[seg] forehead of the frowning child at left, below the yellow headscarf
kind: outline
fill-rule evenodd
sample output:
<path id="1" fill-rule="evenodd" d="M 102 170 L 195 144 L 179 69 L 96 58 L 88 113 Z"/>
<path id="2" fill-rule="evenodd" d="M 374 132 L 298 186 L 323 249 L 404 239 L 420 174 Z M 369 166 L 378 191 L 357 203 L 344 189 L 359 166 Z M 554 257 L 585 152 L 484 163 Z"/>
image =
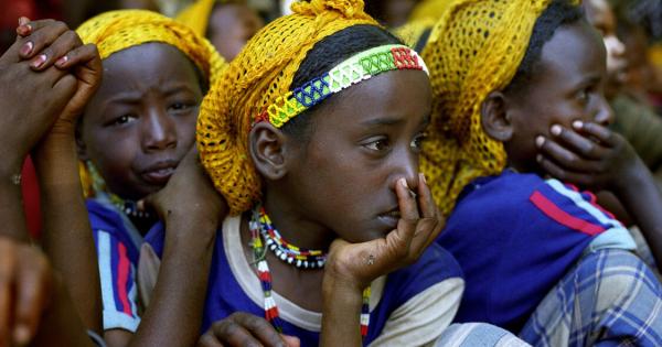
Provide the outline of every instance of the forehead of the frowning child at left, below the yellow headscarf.
<path id="1" fill-rule="evenodd" d="M 180 82 L 199 84 L 194 64 L 177 47 L 164 43 L 146 43 L 117 52 L 103 62 L 104 76 L 99 95 Z"/>

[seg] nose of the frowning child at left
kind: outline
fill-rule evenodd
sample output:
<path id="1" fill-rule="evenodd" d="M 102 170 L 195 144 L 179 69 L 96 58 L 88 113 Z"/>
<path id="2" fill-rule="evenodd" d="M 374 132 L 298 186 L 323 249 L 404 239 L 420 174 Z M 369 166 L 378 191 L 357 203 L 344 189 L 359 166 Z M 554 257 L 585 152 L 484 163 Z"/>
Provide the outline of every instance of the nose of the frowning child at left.
<path id="1" fill-rule="evenodd" d="M 146 152 L 177 147 L 174 120 L 163 107 L 150 107 L 142 122 L 142 148 Z"/>

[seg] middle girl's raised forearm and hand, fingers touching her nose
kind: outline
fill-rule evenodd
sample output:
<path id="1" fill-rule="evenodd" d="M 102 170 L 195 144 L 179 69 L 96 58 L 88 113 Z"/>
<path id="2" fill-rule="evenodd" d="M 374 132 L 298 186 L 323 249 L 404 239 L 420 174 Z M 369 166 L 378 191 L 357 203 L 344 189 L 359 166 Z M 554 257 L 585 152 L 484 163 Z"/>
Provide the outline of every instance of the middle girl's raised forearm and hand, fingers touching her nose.
<path id="1" fill-rule="evenodd" d="M 418 260 L 444 227 L 423 174 L 414 198 L 404 178 L 395 192 L 402 218 L 386 238 L 351 245 L 331 245 L 322 281 L 321 346 L 361 346 L 360 314 L 363 290 L 376 278 Z"/>

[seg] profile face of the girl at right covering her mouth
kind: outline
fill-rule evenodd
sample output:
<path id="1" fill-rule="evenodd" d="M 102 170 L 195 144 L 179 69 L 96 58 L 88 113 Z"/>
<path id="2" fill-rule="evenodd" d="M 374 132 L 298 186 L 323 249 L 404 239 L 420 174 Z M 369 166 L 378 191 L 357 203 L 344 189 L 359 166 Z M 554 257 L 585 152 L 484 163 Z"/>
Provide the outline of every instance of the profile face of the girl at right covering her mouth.
<path id="1" fill-rule="evenodd" d="M 604 96 L 605 62 L 602 41 L 588 23 L 580 21 L 556 30 L 543 46 L 531 82 L 506 96 L 513 134 L 504 145 L 512 166 L 524 172 L 535 170 L 535 138 L 553 138 L 553 124 L 572 128 L 575 120 L 611 122 Z"/>

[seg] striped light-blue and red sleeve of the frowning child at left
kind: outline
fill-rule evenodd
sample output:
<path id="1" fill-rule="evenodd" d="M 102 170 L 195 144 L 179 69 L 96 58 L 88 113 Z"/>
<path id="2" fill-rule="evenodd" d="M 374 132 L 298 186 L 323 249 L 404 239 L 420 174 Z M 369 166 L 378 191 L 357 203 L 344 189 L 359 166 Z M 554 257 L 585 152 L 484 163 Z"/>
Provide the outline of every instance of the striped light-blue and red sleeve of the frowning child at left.
<path id="1" fill-rule="evenodd" d="M 113 232 L 95 230 L 104 304 L 104 329 L 125 329 L 135 333 L 138 316 L 136 265 L 127 253 L 127 246 Z"/>

